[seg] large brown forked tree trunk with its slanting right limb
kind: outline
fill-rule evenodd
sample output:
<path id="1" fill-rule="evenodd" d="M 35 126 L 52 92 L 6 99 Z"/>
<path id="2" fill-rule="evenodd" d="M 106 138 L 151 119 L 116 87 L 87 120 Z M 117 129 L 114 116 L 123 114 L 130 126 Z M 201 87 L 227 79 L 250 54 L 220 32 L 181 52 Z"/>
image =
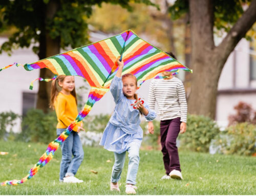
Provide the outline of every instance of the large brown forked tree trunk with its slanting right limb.
<path id="1" fill-rule="evenodd" d="M 191 64 L 193 78 L 188 113 L 214 119 L 218 82 L 224 64 L 238 42 L 256 21 L 256 0 L 243 13 L 218 47 L 213 39 L 213 1 L 190 0 Z"/>

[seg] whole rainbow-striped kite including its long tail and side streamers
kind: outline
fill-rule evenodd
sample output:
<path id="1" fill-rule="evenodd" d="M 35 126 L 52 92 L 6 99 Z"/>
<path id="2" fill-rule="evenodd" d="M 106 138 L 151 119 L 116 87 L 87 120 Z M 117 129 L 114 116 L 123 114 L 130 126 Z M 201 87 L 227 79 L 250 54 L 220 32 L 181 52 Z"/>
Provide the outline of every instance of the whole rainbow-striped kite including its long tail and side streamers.
<path id="1" fill-rule="evenodd" d="M 86 117 L 94 103 L 109 91 L 111 81 L 117 71 L 117 63 L 115 63 L 117 58 L 122 59 L 124 62 L 122 74 L 132 73 L 142 83 L 164 71 L 175 72 L 174 74 L 179 70 L 192 72 L 192 70 L 189 70 L 174 58 L 139 38 L 132 30 L 127 30 L 119 35 L 88 46 L 31 64 L 25 64 L 24 68 L 28 71 L 48 68 L 55 74 L 52 79 L 38 78 L 36 80 L 50 81 L 55 79 L 56 75 L 81 76 L 88 81 L 92 89 L 87 103 L 76 117 L 76 120 L 57 139 L 48 145 L 46 152 L 40 157 L 34 167 L 30 169 L 29 174 L 22 180 L 5 181 L 1 183 L 1 186 L 17 185 L 26 182 L 52 159 L 60 144 L 72 132 L 73 127 Z M 3 69 L 13 65 L 19 66 L 20 64 L 13 63 Z M 3 69 L 0 69 L 0 71 Z M 161 77 L 157 76 L 156 78 Z M 30 84 L 30 89 L 32 88 L 33 82 Z"/>

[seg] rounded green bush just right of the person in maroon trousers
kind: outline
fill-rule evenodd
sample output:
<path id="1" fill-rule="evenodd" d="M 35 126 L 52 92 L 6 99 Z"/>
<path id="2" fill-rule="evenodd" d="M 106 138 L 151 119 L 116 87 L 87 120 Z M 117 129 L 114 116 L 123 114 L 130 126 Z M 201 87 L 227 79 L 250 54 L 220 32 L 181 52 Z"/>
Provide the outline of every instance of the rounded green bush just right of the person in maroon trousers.
<path id="1" fill-rule="evenodd" d="M 209 117 L 188 115 L 186 133 L 178 137 L 180 149 L 208 153 L 211 140 L 219 133 L 219 127 Z"/>

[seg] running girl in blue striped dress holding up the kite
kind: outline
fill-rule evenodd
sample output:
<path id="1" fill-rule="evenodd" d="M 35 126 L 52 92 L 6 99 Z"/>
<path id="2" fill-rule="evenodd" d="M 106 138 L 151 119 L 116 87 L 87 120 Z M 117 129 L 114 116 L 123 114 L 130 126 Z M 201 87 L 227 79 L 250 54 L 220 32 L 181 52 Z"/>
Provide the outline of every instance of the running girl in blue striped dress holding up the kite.
<path id="1" fill-rule="evenodd" d="M 114 113 L 103 132 L 100 145 L 105 149 L 113 151 L 115 163 L 112 169 L 111 190 L 120 191 L 118 181 L 123 169 L 125 154 L 128 151 L 129 165 L 126 177 L 127 194 L 135 194 L 134 186 L 139 167 L 139 148 L 143 138 L 143 131 L 140 127 L 140 114 L 146 120 L 152 121 L 156 118 L 156 113 L 150 109 L 147 103 L 139 103 L 136 109 L 131 105 L 138 96 L 137 79 L 133 74 L 125 74 L 121 77 L 123 61 L 117 60 L 118 71 L 110 85 L 110 91 L 116 103 Z"/>

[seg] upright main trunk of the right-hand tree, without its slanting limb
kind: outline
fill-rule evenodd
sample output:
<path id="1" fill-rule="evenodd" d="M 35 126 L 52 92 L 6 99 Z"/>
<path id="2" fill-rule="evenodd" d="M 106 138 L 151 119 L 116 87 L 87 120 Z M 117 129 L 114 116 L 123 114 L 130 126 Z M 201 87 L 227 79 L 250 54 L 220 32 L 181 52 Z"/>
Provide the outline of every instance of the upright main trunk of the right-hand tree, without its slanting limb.
<path id="1" fill-rule="evenodd" d="M 214 50 L 213 5 L 210 0 L 189 1 L 191 64 L 193 76 L 188 99 L 188 113 L 215 117 L 218 77 Z"/>

